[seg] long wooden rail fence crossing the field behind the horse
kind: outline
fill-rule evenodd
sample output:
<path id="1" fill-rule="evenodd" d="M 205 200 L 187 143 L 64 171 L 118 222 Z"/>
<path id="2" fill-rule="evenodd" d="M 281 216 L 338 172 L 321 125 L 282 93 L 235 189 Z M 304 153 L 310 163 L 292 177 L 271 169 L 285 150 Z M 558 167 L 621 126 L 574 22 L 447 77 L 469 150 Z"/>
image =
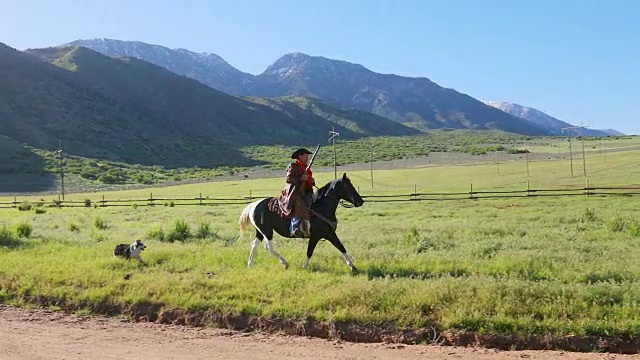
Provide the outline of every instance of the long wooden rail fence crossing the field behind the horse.
<path id="1" fill-rule="evenodd" d="M 464 192 L 414 192 L 410 194 L 388 194 L 388 195 L 364 195 L 362 196 L 367 202 L 402 202 L 402 201 L 442 201 L 442 200 L 480 200 L 480 199 L 498 199 L 498 198 L 532 198 L 532 197 L 560 197 L 560 196 L 633 196 L 640 195 L 640 186 L 608 186 L 608 187 L 591 187 L 588 184 L 585 187 L 570 188 L 537 188 L 531 189 L 527 184 L 523 190 L 481 190 L 473 189 L 470 184 L 469 191 Z M 241 205 L 248 204 L 256 199 L 260 199 L 271 195 L 257 196 L 252 193 L 249 196 L 229 196 L 229 197 L 203 197 L 199 196 L 176 197 L 176 198 L 154 198 L 153 193 L 149 194 L 146 199 L 106 199 L 102 195 L 99 199 L 85 200 L 62 200 L 58 199 L 45 200 L 21 200 L 18 196 L 13 197 L 13 201 L 0 202 L 0 209 L 14 209 L 21 206 L 24 202 L 29 202 L 35 206 L 47 207 L 137 207 L 137 206 L 219 206 L 219 205 Z"/>

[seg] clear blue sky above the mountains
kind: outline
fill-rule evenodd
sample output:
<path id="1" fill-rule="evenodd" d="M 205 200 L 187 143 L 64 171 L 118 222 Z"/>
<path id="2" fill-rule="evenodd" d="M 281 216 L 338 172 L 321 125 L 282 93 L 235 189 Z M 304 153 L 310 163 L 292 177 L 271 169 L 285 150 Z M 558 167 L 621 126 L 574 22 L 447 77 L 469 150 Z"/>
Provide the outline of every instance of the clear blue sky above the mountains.
<path id="1" fill-rule="evenodd" d="M 4 0 L 0 42 L 139 40 L 257 74 L 284 53 L 424 76 L 482 100 L 640 134 L 640 1 Z"/>

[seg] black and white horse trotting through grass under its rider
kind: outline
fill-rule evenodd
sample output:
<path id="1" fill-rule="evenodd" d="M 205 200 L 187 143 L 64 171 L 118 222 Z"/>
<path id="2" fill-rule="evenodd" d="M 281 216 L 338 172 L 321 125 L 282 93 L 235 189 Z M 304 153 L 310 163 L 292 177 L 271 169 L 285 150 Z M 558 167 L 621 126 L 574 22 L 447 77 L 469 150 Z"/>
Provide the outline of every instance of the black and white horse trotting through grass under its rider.
<path id="1" fill-rule="evenodd" d="M 247 205 L 238 219 L 240 225 L 240 238 L 249 222 L 256 228 L 256 236 L 251 243 L 251 252 L 249 253 L 249 260 L 247 267 L 251 267 L 253 263 L 253 256 L 255 254 L 258 241 L 264 241 L 264 247 L 275 256 L 285 269 L 289 268 L 289 263 L 273 248 L 273 233 L 280 234 L 287 238 L 301 238 L 301 236 L 291 236 L 289 233 L 290 219 L 280 215 L 278 208 L 277 197 L 266 197 L 260 200 L 254 201 Z M 353 187 L 351 180 L 347 178 L 347 174 L 344 173 L 341 178 L 330 181 L 322 188 L 318 190 L 317 197 L 313 201 L 311 206 L 311 219 L 310 219 L 310 236 L 309 243 L 307 245 L 307 259 L 304 262 L 303 268 L 309 266 L 309 260 L 313 256 L 313 251 L 318 245 L 321 239 L 326 239 L 335 246 L 342 256 L 344 256 L 347 265 L 352 273 L 357 273 L 358 270 L 353 265 L 351 258 L 347 255 L 347 250 L 340 242 L 338 235 L 336 235 L 336 229 L 338 226 L 338 220 L 336 219 L 336 208 L 341 200 L 353 204 L 355 207 L 360 207 L 364 204 L 364 200 Z M 343 205 L 348 206 L 348 205 Z"/>

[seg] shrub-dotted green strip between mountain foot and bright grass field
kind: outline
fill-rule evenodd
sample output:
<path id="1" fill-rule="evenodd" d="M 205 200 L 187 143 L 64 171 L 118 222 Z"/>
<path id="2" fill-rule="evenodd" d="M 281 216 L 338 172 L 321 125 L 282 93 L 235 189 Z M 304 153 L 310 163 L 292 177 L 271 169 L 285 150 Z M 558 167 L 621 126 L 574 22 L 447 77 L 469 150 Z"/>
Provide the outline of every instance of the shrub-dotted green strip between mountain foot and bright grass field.
<path id="1" fill-rule="evenodd" d="M 1 140 L 1 139 L 0 139 Z M 357 140 L 340 140 L 336 142 L 337 163 L 342 166 L 357 166 L 371 160 L 377 164 L 385 165 L 389 161 L 442 157 L 446 160 L 438 164 L 455 163 L 460 159 L 470 162 L 480 162 L 485 159 L 498 159 L 506 161 L 517 158 L 514 151 L 531 152 L 532 159 L 547 159 L 550 157 L 564 157 L 569 159 L 570 151 L 576 160 L 582 157 L 582 142 L 573 139 L 572 146 L 566 137 L 527 137 L 522 135 L 506 134 L 497 131 L 442 131 L 433 130 L 427 134 L 415 136 L 387 136 L 370 137 Z M 242 166 L 220 166 L 217 168 L 178 168 L 170 169 L 161 166 L 142 166 L 127 163 L 119 163 L 98 159 L 82 158 L 65 154 L 62 159 L 56 152 L 31 148 L 24 148 L 16 153 L 16 144 L 8 143 L 3 147 L 0 144 L 0 162 L 2 154 L 14 154 L 9 156 L 0 166 L 0 193 L 3 188 L 18 189 L 8 191 L 28 192 L 30 188 L 59 189 L 59 179 L 54 181 L 52 177 L 58 177 L 62 169 L 65 173 L 66 188 L 69 191 L 106 191 L 123 190 L 132 187 L 142 187 L 153 184 L 165 186 L 175 183 L 202 182 L 213 180 L 235 180 L 244 174 L 250 177 L 265 177 L 265 174 L 273 174 L 286 166 L 293 151 L 290 146 L 248 146 L 241 149 L 243 157 L 249 163 L 260 163 L 260 166 L 251 168 Z M 11 146 L 8 146 L 11 145 Z M 330 144 L 322 144 L 315 167 L 333 166 L 333 149 Z M 315 144 L 306 145 L 309 148 Z M 640 138 L 632 136 L 586 138 L 584 141 L 584 153 L 587 157 L 604 155 L 603 151 L 616 149 L 640 149 Z M 496 152 L 499 151 L 499 152 Z M 212 154 L 216 156 L 216 154 Z M 523 156 L 520 156 L 523 157 Z M 382 163 L 380 163 L 382 161 Z M 6 167 L 6 169 L 4 169 Z M 3 171 L 4 169 L 4 171 Z M 524 169 L 524 168 L 523 168 Z M 11 176 L 4 173 L 21 172 L 25 176 L 20 182 L 13 182 Z M 43 178 L 38 178 L 36 174 Z M 269 175 L 266 175 L 269 176 Z M 19 190 L 24 189 L 24 190 Z"/>

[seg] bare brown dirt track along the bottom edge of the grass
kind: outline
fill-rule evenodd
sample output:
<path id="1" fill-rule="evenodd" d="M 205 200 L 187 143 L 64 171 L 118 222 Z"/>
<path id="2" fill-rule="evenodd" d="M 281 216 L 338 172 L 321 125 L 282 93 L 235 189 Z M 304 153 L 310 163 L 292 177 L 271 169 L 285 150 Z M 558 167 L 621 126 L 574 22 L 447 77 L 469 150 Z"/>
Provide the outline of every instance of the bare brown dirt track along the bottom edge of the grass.
<path id="1" fill-rule="evenodd" d="M 622 359 L 631 355 L 355 344 L 0 305 L 0 359 Z"/>

